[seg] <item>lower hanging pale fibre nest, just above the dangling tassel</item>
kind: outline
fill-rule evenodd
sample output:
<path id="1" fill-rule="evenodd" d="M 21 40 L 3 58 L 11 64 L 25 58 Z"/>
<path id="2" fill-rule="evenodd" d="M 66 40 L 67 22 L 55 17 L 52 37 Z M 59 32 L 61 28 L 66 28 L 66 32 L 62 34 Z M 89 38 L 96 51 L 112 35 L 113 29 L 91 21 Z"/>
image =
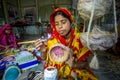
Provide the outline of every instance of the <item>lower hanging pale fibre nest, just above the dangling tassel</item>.
<path id="1" fill-rule="evenodd" d="M 87 47 L 87 32 L 81 33 L 81 42 Z M 107 50 L 116 43 L 116 33 L 102 31 L 99 26 L 94 26 L 89 33 L 89 46 L 91 50 Z"/>

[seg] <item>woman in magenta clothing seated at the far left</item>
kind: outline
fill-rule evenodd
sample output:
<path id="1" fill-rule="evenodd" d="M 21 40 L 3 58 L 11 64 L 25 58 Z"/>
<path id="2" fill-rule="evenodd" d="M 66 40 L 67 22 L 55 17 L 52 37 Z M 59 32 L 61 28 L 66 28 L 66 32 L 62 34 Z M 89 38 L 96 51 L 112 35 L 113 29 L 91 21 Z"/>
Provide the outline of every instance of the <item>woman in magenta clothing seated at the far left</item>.
<path id="1" fill-rule="evenodd" d="M 16 38 L 12 33 L 12 27 L 8 24 L 0 27 L 0 50 L 17 47 Z"/>

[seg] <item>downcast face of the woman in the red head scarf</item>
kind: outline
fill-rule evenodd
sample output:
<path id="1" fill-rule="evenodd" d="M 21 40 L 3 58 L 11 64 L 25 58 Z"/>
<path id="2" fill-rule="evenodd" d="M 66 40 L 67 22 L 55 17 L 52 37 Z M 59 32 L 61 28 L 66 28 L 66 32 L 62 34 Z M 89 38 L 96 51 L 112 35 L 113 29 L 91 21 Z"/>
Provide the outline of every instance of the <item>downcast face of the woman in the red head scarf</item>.
<path id="1" fill-rule="evenodd" d="M 61 36 L 67 36 L 70 31 L 70 21 L 62 15 L 55 16 L 56 30 Z"/>

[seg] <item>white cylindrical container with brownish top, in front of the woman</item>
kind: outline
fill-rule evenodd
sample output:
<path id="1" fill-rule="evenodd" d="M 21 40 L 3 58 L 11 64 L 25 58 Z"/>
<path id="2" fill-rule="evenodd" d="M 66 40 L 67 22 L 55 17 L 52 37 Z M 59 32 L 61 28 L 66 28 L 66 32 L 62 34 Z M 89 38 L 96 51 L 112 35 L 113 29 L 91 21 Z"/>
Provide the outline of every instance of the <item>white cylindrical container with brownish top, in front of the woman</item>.
<path id="1" fill-rule="evenodd" d="M 56 80 L 57 69 L 53 66 L 49 66 L 44 70 L 44 80 Z"/>

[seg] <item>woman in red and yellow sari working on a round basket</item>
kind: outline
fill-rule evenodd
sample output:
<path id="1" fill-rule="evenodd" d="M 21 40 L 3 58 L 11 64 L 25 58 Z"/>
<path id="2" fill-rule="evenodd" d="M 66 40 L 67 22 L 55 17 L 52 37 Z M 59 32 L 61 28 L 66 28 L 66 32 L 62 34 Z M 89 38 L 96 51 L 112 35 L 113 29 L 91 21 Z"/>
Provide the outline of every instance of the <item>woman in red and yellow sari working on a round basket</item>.
<path id="1" fill-rule="evenodd" d="M 87 57 L 91 54 L 80 41 L 80 33 L 72 28 L 72 15 L 65 8 L 55 9 L 50 16 L 50 23 L 53 28 L 52 36 L 47 40 L 46 45 L 43 40 L 38 39 L 35 42 L 36 49 L 42 54 L 41 57 L 46 59 L 44 68 L 54 66 L 58 69 L 59 78 L 73 80 L 77 76 L 80 80 L 97 80 L 96 77 L 87 70 Z M 60 43 L 69 49 L 72 55 L 65 62 L 54 62 L 48 54 L 49 49 Z"/>

